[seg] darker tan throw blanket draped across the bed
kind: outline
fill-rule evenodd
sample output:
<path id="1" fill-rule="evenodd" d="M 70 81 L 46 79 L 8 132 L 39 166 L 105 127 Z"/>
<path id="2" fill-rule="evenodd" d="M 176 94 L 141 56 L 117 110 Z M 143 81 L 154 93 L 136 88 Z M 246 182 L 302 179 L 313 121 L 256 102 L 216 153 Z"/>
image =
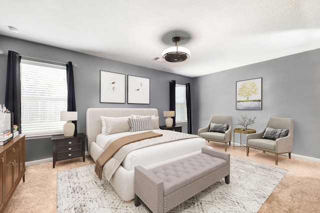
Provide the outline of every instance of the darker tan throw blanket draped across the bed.
<path id="1" fill-rule="evenodd" d="M 94 172 L 101 180 L 102 178 L 102 167 L 104 164 L 110 160 L 114 154 L 124 145 L 130 144 L 133 142 L 141 141 L 149 138 L 161 137 L 162 134 L 158 134 L 152 131 L 143 132 L 135 135 L 124 136 L 113 141 L 107 149 L 105 149 L 101 155 L 96 159 Z"/>

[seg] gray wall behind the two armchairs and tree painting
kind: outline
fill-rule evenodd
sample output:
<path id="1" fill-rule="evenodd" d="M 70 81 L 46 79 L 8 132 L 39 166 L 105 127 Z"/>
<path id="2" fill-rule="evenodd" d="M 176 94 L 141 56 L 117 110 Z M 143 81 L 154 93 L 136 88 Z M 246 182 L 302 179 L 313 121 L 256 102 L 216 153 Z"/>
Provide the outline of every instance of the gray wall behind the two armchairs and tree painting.
<path id="1" fill-rule="evenodd" d="M 193 133 L 211 115 L 256 116 L 249 128 L 260 132 L 269 117 L 294 118 L 292 153 L 320 158 L 320 49 L 251 64 L 193 79 Z M 235 82 L 262 77 L 262 110 L 235 109 Z M 193 104 L 194 105 L 194 104 Z M 232 134 L 233 138 L 233 134 Z M 238 142 L 239 134 L 235 134 Z M 245 134 L 242 135 L 242 142 Z M 245 142 L 244 142 L 245 143 Z"/>

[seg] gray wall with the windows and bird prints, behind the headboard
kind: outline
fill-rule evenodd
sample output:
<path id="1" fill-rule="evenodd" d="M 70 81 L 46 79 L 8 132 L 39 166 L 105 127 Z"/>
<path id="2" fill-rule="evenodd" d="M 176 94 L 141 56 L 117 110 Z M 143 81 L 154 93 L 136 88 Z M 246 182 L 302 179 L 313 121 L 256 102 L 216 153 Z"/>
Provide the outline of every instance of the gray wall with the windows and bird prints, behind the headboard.
<path id="1" fill-rule="evenodd" d="M 0 36 L 0 49 L 5 52 L 12 50 L 21 55 L 54 61 L 72 61 L 73 64 L 75 63 L 77 65 L 76 67 L 73 67 L 73 73 L 75 82 L 76 110 L 78 112 L 77 131 L 79 133 L 85 133 L 86 109 L 91 107 L 156 108 L 159 113 L 159 123 L 160 125 L 164 125 L 165 118 L 163 117 L 163 111 L 169 109 L 169 80 L 192 84 L 192 78 L 189 77 L 6 36 Z M 2 91 L 0 93 L 0 104 L 4 103 L 5 98 L 6 67 L 7 55 L 2 54 L 0 55 L 0 90 Z M 99 103 L 100 70 L 150 78 L 150 104 Z M 127 76 L 125 78 L 127 80 Z M 183 125 L 182 131 L 187 131 L 185 125 Z M 52 157 L 52 142 L 50 138 L 26 140 L 25 143 L 25 161 L 34 161 Z"/>

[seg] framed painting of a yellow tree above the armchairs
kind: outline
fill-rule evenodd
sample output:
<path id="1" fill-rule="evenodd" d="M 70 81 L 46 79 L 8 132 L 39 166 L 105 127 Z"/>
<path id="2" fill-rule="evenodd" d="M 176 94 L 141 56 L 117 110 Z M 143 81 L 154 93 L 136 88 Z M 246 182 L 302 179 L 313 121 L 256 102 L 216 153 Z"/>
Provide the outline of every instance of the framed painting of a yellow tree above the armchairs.
<path id="1" fill-rule="evenodd" d="M 262 109 L 262 78 L 236 81 L 236 109 Z"/>

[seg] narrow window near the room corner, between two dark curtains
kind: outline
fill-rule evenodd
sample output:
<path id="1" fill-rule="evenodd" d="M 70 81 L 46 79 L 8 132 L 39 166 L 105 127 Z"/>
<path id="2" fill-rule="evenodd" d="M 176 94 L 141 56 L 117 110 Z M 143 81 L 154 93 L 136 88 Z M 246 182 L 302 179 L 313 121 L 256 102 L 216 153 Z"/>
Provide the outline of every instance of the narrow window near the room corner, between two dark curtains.
<path id="1" fill-rule="evenodd" d="M 175 84 L 175 122 L 187 122 L 185 85 Z"/>

